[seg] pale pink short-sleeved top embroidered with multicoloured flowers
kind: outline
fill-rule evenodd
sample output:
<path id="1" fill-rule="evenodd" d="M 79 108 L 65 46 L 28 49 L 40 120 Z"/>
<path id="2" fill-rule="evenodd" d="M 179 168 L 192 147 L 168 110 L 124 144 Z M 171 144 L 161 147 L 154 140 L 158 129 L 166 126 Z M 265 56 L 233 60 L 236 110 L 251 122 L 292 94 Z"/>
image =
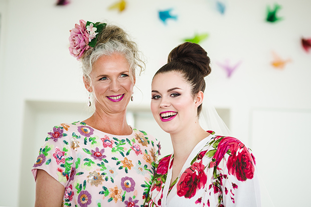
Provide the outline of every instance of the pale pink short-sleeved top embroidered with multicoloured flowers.
<path id="1" fill-rule="evenodd" d="M 143 206 L 159 143 L 144 131 L 120 136 L 84 122 L 48 133 L 32 172 L 43 169 L 65 187 L 63 206 Z"/>

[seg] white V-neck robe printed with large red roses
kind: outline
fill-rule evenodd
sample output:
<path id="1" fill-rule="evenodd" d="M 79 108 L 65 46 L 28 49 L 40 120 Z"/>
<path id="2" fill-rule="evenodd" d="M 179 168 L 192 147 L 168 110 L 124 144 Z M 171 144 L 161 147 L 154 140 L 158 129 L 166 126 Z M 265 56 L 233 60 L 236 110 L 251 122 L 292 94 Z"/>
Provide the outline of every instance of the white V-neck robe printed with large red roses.
<path id="1" fill-rule="evenodd" d="M 145 206 L 261 206 L 249 149 L 236 138 L 208 132 L 171 186 L 174 155 L 160 160 Z"/>

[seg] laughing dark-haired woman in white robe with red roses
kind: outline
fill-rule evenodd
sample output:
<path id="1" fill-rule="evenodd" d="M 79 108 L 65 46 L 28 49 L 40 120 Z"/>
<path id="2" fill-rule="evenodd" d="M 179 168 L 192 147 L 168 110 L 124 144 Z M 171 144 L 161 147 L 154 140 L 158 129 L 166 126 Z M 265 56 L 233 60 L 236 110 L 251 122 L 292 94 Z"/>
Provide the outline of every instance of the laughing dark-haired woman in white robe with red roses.
<path id="1" fill-rule="evenodd" d="M 170 133 L 174 153 L 160 160 L 145 206 L 260 206 L 249 149 L 199 124 L 204 77 L 210 72 L 206 51 L 187 42 L 153 77 L 151 111 Z"/>

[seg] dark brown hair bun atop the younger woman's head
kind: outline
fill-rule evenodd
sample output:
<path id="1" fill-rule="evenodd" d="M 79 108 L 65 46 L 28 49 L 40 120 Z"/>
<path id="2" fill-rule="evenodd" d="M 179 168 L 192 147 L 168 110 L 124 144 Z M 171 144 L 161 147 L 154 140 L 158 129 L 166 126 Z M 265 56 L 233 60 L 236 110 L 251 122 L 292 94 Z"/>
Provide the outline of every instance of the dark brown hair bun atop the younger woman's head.
<path id="1" fill-rule="evenodd" d="M 168 63 L 184 62 L 197 68 L 205 77 L 211 73 L 210 58 L 207 52 L 198 44 L 185 42 L 174 48 L 169 54 Z"/>

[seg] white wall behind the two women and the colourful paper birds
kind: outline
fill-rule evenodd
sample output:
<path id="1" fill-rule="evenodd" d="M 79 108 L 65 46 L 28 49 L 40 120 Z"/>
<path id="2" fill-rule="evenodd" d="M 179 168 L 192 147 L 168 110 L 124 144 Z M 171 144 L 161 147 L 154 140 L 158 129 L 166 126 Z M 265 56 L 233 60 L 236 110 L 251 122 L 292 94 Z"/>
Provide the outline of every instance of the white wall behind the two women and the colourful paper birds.
<path id="1" fill-rule="evenodd" d="M 128 0 L 122 13 L 107 10 L 114 2 L 71 0 L 56 7 L 56 0 L 0 0 L 0 206 L 33 205 L 32 157 L 46 132 L 87 114 L 79 105 L 87 102 L 80 65 L 68 52 L 69 30 L 80 19 L 124 28 L 145 55 L 133 111 L 148 110 L 151 78 L 169 52 L 196 32 L 209 33 L 201 43 L 213 70 L 206 95 L 216 108 L 230 110 L 230 129 L 253 149 L 274 206 L 307 206 L 311 53 L 303 51 L 300 38 L 311 38 L 311 1 L 230 0 L 225 15 L 212 8 L 212 0 Z M 282 6 L 283 20 L 269 24 L 266 6 L 274 3 Z M 170 8 L 178 21 L 164 25 L 158 11 Z M 272 51 L 291 62 L 274 69 Z M 230 79 L 216 64 L 226 59 L 242 60 Z M 77 110 L 70 111 L 68 103 Z M 148 130 L 158 134 L 157 127 Z"/>

